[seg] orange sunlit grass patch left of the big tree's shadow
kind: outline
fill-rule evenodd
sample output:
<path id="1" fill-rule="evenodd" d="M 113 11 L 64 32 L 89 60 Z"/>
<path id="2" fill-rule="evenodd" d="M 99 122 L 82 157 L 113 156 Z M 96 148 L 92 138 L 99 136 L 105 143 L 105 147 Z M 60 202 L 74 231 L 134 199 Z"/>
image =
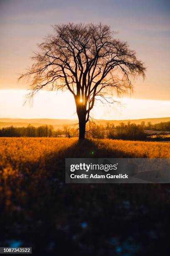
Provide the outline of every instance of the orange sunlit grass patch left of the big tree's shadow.
<path id="1" fill-rule="evenodd" d="M 75 141 L 75 138 L 0 138 L 0 166 L 22 168 L 38 163 L 43 167 L 47 156 L 60 155 Z"/>

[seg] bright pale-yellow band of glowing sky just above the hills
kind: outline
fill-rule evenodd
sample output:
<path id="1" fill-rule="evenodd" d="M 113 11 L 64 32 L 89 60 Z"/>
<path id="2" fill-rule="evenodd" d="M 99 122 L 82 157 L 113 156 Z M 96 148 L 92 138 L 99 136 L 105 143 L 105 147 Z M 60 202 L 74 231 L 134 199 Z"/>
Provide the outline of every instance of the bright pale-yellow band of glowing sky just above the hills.
<path id="1" fill-rule="evenodd" d="M 76 109 L 70 92 L 39 92 L 33 105 L 23 106 L 27 90 L 0 90 L 1 118 L 61 118 L 76 119 Z M 124 120 L 140 118 L 168 117 L 170 101 L 166 100 L 138 100 L 122 98 L 111 105 L 96 101 L 91 113 L 92 118 L 107 120 Z"/>

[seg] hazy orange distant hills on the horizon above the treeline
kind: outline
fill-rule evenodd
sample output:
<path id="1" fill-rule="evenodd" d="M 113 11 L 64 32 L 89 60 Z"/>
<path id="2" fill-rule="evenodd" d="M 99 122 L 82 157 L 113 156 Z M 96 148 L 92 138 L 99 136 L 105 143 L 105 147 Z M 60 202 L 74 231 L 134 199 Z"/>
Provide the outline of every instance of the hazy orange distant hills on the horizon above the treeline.
<path id="1" fill-rule="evenodd" d="M 151 122 L 152 124 L 161 123 L 161 122 L 168 122 L 170 121 L 170 117 L 168 118 L 145 118 L 145 119 L 133 119 L 133 120 L 102 120 L 97 119 L 94 120 L 97 124 L 105 125 L 106 123 L 113 123 L 114 125 L 119 125 L 121 122 L 123 123 L 135 123 L 140 124 L 142 121 L 145 123 Z M 47 118 L 40 118 L 40 119 L 22 119 L 22 118 L 0 118 L 0 128 L 8 127 L 8 126 L 15 126 L 15 127 L 26 127 L 28 124 L 32 124 L 35 127 L 40 125 L 53 125 L 55 129 L 61 128 L 63 125 L 75 125 L 78 123 L 76 119 L 47 119 Z"/>

